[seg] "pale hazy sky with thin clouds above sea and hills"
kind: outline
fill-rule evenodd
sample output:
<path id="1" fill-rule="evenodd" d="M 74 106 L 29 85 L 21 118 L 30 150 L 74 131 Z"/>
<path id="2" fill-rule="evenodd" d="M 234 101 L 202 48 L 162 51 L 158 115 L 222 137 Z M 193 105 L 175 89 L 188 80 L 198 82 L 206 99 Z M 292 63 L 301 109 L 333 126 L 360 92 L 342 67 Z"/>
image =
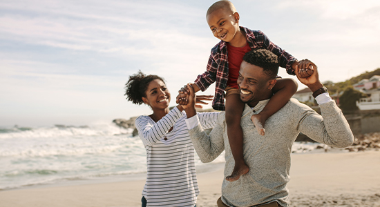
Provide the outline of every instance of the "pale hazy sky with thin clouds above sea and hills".
<path id="1" fill-rule="evenodd" d="M 0 126 L 149 115 L 124 97 L 138 70 L 163 77 L 175 106 L 178 89 L 205 71 L 218 43 L 205 19 L 213 2 L 0 0 Z M 240 26 L 312 60 L 321 81 L 380 68 L 378 0 L 232 2 Z M 279 75 L 295 78 L 283 68 Z M 214 84 L 204 92 L 213 93 Z"/>

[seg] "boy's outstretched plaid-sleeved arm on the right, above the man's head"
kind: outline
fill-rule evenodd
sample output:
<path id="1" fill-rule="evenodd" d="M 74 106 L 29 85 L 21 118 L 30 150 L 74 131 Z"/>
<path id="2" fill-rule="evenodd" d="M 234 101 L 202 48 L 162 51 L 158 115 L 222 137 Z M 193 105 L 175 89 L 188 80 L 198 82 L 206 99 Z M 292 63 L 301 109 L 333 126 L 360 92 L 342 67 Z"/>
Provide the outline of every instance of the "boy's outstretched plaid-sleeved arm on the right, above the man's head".
<path id="1" fill-rule="evenodd" d="M 296 75 L 294 71 L 296 70 L 298 61 L 295 57 L 270 41 L 267 35 L 265 35 L 263 32 L 258 31 L 255 33 L 255 37 L 258 39 L 258 45 L 260 47 L 270 50 L 278 56 L 278 63 L 280 63 L 281 67 L 286 68 L 286 71 L 289 75 Z"/>

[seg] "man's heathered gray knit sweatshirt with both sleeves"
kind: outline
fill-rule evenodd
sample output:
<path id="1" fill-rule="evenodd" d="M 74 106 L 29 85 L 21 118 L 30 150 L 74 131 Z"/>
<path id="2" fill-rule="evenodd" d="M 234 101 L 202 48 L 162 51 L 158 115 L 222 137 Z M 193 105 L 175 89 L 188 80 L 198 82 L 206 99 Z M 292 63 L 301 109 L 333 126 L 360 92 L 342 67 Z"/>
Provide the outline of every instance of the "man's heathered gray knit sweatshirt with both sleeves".
<path id="1" fill-rule="evenodd" d="M 251 115 L 263 110 L 269 99 L 260 101 L 253 109 L 245 106 L 241 126 L 243 128 L 243 154 L 249 172 L 237 181 L 223 179 L 222 201 L 227 206 L 256 206 L 277 201 L 288 206 L 287 182 L 289 181 L 292 144 L 299 132 L 311 139 L 336 148 L 350 146 L 354 136 L 348 122 L 334 101 L 320 105 L 322 115 L 309 106 L 291 99 L 265 122 L 265 136 L 261 136 L 251 121 Z M 189 130 L 191 141 L 202 162 L 216 159 L 225 152 L 225 177 L 234 169 L 234 157 L 227 137 L 225 112 L 209 136 L 198 124 Z"/>

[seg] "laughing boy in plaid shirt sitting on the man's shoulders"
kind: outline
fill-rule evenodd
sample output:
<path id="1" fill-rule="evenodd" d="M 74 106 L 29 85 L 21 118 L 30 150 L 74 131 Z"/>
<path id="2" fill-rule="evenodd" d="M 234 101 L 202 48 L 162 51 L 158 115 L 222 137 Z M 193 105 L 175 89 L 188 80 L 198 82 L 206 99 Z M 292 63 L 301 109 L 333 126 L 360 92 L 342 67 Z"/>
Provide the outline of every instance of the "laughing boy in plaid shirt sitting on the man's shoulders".
<path id="1" fill-rule="evenodd" d="M 227 135 L 235 159 L 234 170 L 226 179 L 236 181 L 249 171 L 243 159 L 243 130 L 240 126 L 245 104 L 240 101 L 240 90 L 236 83 L 243 56 L 252 49 L 265 48 L 274 52 L 279 58 L 280 66 L 287 68 L 287 72 L 292 75 L 295 75 L 294 70 L 298 66 L 298 61 L 272 43 L 263 32 L 239 27 L 239 14 L 230 1 L 213 3 L 207 10 L 206 19 L 211 32 L 220 39 L 220 42 L 211 49 L 207 71 L 198 75 L 192 86 L 195 92 L 205 91 L 211 83 L 216 82 L 212 106 L 216 110 L 226 111 Z M 267 106 L 251 117 L 260 135 L 265 135 L 263 126 L 266 119 L 285 106 L 296 92 L 297 84 L 292 79 L 279 79 L 273 90 L 275 94 Z M 180 93 L 181 91 L 187 93 L 184 88 Z"/>

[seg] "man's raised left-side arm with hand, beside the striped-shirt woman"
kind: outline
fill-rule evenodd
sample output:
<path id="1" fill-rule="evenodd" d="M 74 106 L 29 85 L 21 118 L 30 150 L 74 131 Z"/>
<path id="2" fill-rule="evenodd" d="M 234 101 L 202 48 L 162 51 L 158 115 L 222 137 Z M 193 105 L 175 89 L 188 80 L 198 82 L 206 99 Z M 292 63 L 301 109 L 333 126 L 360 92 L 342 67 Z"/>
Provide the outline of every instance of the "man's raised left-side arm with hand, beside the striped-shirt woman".
<path id="1" fill-rule="evenodd" d="M 196 115 L 194 90 L 190 85 L 188 85 L 188 88 L 190 91 L 189 99 L 187 105 L 184 106 L 184 110 L 187 114 L 187 119 L 185 121 L 189 129 L 189 135 L 193 142 L 193 146 L 200 157 L 200 161 L 211 162 L 216 159 L 223 150 L 225 150 L 223 126 L 220 124 L 221 121 L 216 121 L 216 126 L 210 134 L 207 135 L 202 126 L 200 126 L 200 121 Z M 215 118 L 220 119 L 220 114 L 221 113 Z"/>

